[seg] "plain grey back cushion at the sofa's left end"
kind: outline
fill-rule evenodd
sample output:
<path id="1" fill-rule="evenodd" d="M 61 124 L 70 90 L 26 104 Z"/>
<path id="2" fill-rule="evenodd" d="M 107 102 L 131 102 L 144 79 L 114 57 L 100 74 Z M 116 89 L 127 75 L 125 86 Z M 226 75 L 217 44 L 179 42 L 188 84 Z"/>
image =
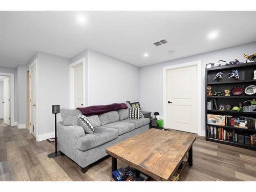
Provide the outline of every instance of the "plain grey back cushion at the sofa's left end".
<path id="1" fill-rule="evenodd" d="M 77 125 L 77 118 L 81 114 L 79 110 L 60 109 L 62 122 L 65 126 Z"/>

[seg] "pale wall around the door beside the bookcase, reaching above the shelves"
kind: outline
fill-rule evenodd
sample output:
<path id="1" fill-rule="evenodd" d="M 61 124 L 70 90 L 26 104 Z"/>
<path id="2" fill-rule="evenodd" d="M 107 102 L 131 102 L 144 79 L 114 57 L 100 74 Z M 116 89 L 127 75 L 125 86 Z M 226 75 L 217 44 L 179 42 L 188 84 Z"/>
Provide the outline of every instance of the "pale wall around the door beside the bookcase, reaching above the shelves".
<path id="1" fill-rule="evenodd" d="M 143 111 L 159 112 L 163 115 L 163 67 L 178 65 L 196 60 L 202 61 L 202 103 L 205 103 L 205 64 L 218 60 L 233 61 L 235 58 L 245 62 L 243 53 L 255 53 L 256 42 L 241 46 L 231 47 L 218 51 L 194 55 L 176 60 L 170 60 L 155 65 L 140 68 L 140 103 Z M 184 88 L 184 91 L 186 88 Z M 204 117 L 205 106 L 202 105 Z M 165 122 L 164 122 L 165 123 Z M 205 129 L 205 120 L 202 119 L 202 130 Z"/>

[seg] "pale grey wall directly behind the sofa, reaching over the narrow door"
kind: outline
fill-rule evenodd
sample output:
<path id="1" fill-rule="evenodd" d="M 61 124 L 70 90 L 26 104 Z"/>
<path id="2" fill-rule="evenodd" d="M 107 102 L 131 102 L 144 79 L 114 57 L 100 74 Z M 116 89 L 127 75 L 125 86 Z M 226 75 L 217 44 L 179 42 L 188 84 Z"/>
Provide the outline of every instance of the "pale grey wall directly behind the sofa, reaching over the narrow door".
<path id="1" fill-rule="evenodd" d="M 88 105 L 139 101 L 139 68 L 93 50 L 71 58 L 88 62 Z"/>

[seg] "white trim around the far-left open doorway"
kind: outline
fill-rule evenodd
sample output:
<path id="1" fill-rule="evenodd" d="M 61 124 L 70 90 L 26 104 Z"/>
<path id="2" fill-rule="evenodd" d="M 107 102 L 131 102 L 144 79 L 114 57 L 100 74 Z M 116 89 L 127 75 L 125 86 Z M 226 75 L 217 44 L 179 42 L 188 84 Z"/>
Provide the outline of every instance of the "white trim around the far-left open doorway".
<path id="1" fill-rule="evenodd" d="M 14 89 L 14 74 L 0 73 L 0 75 L 10 76 L 10 93 L 11 93 L 11 126 L 15 126 L 15 89 Z"/>

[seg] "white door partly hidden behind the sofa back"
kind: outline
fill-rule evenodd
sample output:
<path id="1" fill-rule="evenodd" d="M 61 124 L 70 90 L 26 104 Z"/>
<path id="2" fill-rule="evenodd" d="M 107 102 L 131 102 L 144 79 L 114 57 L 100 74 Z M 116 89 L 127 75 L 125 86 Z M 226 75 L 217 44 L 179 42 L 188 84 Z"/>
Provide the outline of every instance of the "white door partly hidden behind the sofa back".
<path id="1" fill-rule="evenodd" d="M 83 66 L 74 67 L 74 108 L 83 107 Z"/>

